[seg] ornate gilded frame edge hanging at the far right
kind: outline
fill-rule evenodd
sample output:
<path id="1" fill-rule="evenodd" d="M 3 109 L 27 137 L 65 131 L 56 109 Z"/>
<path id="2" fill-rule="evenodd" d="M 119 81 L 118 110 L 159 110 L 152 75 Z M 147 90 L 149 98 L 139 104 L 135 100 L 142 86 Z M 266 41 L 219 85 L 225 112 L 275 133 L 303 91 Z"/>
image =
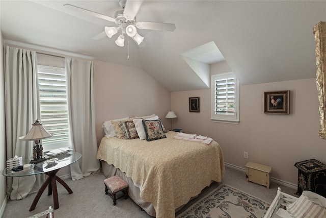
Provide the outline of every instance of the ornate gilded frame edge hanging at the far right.
<path id="1" fill-rule="evenodd" d="M 326 139 L 326 22 L 314 27 L 316 40 L 317 90 L 320 113 L 319 137 Z"/>

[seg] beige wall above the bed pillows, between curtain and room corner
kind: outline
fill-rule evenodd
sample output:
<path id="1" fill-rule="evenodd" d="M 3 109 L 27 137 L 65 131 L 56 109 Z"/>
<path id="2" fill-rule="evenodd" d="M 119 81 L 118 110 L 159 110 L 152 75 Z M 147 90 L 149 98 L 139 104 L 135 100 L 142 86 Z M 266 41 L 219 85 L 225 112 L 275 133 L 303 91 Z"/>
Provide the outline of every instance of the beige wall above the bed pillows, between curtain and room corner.
<path id="1" fill-rule="evenodd" d="M 104 136 L 105 120 L 156 114 L 165 126 L 170 124 L 165 116 L 171 109 L 171 92 L 144 70 L 100 61 L 95 61 L 95 69 L 97 144 Z"/>

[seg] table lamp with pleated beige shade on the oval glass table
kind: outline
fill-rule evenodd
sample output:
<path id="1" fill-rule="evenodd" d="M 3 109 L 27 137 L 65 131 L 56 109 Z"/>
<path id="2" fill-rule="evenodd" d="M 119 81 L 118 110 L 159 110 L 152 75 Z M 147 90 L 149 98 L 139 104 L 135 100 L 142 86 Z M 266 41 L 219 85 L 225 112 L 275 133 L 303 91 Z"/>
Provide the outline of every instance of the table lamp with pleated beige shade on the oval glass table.
<path id="1" fill-rule="evenodd" d="M 25 136 L 19 137 L 20 140 L 23 141 L 33 141 L 34 140 L 34 147 L 33 147 L 33 160 L 30 163 L 39 163 L 46 160 L 43 156 L 43 148 L 42 144 L 40 144 L 40 140 L 43 138 L 52 137 L 50 133 L 48 133 L 43 125 L 41 124 L 40 120 L 35 120 L 35 123 L 32 124 L 32 129 L 28 134 Z"/>

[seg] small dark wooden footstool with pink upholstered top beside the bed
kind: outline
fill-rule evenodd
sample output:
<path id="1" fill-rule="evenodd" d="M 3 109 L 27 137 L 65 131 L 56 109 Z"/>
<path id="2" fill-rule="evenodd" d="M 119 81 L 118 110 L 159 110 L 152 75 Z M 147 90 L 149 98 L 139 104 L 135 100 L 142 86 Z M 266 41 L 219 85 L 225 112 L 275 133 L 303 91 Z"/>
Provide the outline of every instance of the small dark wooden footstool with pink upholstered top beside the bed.
<path id="1" fill-rule="evenodd" d="M 120 199 L 124 196 L 124 199 L 128 198 L 128 184 L 120 178 L 120 176 L 113 176 L 107 179 L 104 179 L 105 185 L 105 195 L 109 195 L 113 199 L 113 205 L 116 205 L 117 199 Z M 108 191 L 110 190 L 110 191 Z M 118 191 L 123 191 L 124 195 L 116 198 L 116 193 Z"/>

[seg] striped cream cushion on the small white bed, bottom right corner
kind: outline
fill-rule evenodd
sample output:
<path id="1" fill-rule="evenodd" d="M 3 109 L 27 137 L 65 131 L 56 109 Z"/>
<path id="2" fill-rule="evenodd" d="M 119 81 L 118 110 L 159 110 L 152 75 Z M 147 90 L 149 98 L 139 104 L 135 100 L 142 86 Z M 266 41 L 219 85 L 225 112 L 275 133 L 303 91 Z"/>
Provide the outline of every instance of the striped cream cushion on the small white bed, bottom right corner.
<path id="1" fill-rule="evenodd" d="M 304 195 L 301 195 L 295 202 L 289 204 L 287 211 L 297 218 L 322 218 L 326 215 L 326 208 L 312 202 Z"/>

